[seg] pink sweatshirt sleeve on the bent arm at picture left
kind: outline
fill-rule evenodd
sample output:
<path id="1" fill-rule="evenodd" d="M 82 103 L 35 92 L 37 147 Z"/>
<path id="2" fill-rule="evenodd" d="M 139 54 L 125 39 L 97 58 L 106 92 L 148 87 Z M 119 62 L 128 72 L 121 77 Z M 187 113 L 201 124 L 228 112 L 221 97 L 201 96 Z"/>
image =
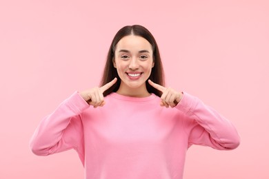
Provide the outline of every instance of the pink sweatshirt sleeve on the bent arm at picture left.
<path id="1" fill-rule="evenodd" d="M 47 156 L 75 149 L 83 159 L 83 131 L 81 113 L 89 105 L 75 92 L 57 109 L 41 120 L 30 140 L 30 149 L 39 156 Z"/>

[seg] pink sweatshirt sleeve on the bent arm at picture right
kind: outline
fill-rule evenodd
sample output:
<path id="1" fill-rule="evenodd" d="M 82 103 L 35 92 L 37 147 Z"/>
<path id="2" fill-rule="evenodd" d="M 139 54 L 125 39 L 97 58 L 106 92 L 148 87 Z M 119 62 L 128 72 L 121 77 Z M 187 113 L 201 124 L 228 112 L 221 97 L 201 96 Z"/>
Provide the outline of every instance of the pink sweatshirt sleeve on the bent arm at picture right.
<path id="1" fill-rule="evenodd" d="M 195 144 L 228 150 L 239 146 L 237 129 L 215 109 L 203 104 L 199 98 L 184 92 L 176 108 L 187 116 L 183 125 L 189 135 L 188 147 Z"/>

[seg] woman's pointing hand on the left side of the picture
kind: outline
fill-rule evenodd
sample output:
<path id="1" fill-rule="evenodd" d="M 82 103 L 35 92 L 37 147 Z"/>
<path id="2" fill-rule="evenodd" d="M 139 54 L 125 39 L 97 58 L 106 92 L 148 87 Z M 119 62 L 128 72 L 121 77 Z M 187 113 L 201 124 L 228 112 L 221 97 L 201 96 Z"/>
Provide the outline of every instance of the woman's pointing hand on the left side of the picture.
<path id="1" fill-rule="evenodd" d="M 116 81 L 117 78 L 114 78 L 112 81 L 106 83 L 106 85 L 103 85 L 102 87 L 93 87 L 92 89 L 79 92 L 79 94 L 89 105 L 92 105 L 94 108 L 99 106 L 102 107 L 105 105 L 105 101 L 103 100 L 103 92 L 112 87 Z"/>

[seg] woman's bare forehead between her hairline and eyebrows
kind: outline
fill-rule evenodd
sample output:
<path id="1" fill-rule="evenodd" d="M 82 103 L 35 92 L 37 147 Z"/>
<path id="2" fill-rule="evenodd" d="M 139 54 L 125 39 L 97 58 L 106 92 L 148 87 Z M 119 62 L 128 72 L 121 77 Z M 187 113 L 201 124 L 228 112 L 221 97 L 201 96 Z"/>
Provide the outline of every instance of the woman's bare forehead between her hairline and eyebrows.
<path id="1" fill-rule="evenodd" d="M 141 36 L 128 35 L 117 43 L 115 51 L 119 50 L 129 50 L 130 52 L 148 50 L 152 52 L 152 45 Z"/>

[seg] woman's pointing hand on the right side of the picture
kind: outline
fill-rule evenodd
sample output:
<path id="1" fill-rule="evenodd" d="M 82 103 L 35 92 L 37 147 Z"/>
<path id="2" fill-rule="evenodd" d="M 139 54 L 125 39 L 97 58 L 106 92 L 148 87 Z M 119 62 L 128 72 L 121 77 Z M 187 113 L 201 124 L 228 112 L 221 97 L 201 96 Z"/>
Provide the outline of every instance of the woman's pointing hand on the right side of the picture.
<path id="1" fill-rule="evenodd" d="M 163 93 L 161 95 L 161 106 L 175 107 L 183 97 L 183 93 L 177 92 L 175 89 L 163 87 L 157 83 L 153 83 L 151 80 L 148 80 L 148 83 Z"/>

